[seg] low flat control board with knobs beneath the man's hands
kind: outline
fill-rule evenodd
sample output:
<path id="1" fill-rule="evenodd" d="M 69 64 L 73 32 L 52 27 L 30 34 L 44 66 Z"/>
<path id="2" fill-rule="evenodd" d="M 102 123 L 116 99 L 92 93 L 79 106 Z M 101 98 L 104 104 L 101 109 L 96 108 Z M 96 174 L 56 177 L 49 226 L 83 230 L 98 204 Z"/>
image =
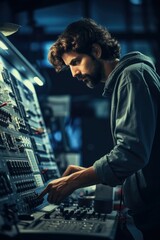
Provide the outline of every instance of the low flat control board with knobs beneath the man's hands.
<path id="1" fill-rule="evenodd" d="M 51 239 L 115 239 L 116 212 L 110 214 L 96 212 L 94 207 L 78 204 L 50 206 L 50 210 L 39 212 L 34 221 L 21 222 L 20 232 L 23 240 Z"/>

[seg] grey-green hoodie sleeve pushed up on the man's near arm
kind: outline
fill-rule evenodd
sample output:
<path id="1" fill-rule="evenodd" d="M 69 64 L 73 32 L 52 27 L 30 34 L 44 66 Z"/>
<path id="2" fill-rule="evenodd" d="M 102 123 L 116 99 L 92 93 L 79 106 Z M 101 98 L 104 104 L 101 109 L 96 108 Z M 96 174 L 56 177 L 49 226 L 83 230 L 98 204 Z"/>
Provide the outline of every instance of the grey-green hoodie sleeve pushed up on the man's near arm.
<path id="1" fill-rule="evenodd" d="M 115 146 L 94 163 L 98 177 L 110 186 L 148 163 L 156 127 L 156 106 L 143 74 L 126 71 L 122 78 L 111 108 Z"/>

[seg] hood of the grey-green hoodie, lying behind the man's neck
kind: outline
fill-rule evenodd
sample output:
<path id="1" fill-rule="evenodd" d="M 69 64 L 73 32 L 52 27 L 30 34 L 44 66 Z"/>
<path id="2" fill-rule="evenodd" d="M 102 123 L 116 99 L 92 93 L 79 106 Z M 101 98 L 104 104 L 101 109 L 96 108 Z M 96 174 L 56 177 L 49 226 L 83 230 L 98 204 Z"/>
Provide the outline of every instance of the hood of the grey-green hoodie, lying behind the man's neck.
<path id="1" fill-rule="evenodd" d="M 148 65 L 148 67 L 152 68 L 153 71 L 155 71 L 155 65 L 152 61 L 152 59 L 140 52 L 130 52 L 126 54 L 124 57 L 121 58 L 115 69 L 110 73 L 104 87 L 103 96 L 108 96 L 108 94 L 112 94 L 114 85 L 119 77 L 119 75 L 122 73 L 122 71 L 135 63 L 144 63 Z M 158 86 L 160 91 L 160 86 Z"/>

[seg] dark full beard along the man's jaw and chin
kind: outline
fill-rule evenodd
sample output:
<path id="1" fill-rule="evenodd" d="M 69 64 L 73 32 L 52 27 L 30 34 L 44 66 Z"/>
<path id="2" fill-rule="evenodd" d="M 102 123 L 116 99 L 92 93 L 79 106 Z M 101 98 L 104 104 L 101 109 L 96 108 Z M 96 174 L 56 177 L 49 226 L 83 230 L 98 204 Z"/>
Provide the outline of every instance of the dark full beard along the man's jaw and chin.
<path id="1" fill-rule="evenodd" d="M 94 88 L 102 80 L 102 65 L 99 60 L 93 58 L 93 72 L 90 74 L 83 74 L 78 77 L 87 87 Z"/>

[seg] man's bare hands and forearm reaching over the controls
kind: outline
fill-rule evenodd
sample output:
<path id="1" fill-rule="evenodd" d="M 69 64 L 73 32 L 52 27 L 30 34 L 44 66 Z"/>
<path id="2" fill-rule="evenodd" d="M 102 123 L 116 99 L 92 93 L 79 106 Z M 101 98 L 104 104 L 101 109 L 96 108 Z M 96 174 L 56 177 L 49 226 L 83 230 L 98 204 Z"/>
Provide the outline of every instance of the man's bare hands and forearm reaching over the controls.
<path id="1" fill-rule="evenodd" d="M 100 183 L 100 180 L 93 167 L 83 168 L 71 165 L 61 178 L 55 179 L 47 185 L 39 198 L 41 199 L 48 194 L 47 200 L 49 203 L 59 204 L 74 190 L 98 183 Z"/>

